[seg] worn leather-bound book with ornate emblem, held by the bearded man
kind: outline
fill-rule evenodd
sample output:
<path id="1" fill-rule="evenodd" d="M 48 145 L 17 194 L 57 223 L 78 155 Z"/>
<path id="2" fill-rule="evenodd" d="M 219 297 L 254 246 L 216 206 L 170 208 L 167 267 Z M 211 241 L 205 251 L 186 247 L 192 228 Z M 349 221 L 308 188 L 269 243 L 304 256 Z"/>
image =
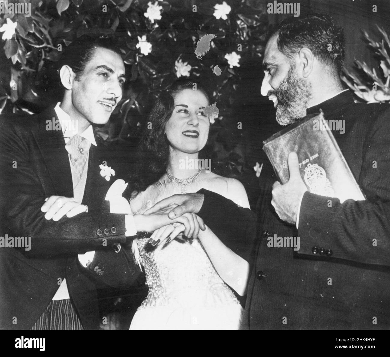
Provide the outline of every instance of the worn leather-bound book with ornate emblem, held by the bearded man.
<path id="1" fill-rule="evenodd" d="M 265 140 L 263 150 L 282 184 L 289 180 L 287 159 L 298 155 L 303 182 L 311 193 L 365 200 L 323 113 L 307 115 Z"/>

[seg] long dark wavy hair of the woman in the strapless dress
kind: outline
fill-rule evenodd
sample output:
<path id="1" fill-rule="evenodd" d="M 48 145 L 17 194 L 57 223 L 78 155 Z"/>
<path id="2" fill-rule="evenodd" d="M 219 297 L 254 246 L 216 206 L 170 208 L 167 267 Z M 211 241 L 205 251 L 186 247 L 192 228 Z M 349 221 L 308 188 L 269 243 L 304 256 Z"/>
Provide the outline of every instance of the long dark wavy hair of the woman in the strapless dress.
<path id="1" fill-rule="evenodd" d="M 129 177 L 132 198 L 164 175 L 169 161 L 169 141 L 165 134 L 165 124 L 173 113 L 174 97 L 185 89 L 195 90 L 195 88 L 206 96 L 210 104 L 212 97 L 207 88 L 191 78 L 174 81 L 157 97 L 138 145 L 135 173 Z M 200 150 L 199 157 L 204 158 L 206 151 L 206 148 Z"/>

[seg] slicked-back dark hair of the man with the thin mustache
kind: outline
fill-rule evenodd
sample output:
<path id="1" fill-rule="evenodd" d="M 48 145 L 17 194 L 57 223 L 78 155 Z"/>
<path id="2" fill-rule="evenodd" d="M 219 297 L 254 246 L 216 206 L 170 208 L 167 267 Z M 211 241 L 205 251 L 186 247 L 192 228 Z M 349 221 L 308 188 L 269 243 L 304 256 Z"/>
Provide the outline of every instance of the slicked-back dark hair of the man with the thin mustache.
<path id="1" fill-rule="evenodd" d="M 78 37 L 65 48 L 58 62 L 58 69 L 61 69 L 63 65 L 68 65 L 76 74 L 75 79 L 78 80 L 97 48 L 110 49 L 121 55 L 115 37 L 101 34 L 85 34 Z"/>

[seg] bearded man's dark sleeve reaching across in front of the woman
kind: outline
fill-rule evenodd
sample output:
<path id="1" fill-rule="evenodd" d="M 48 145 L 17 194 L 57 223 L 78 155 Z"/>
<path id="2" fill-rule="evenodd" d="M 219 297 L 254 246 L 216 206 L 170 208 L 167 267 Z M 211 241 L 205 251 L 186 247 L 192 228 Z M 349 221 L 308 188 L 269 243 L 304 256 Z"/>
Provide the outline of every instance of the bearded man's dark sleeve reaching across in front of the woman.
<path id="1" fill-rule="evenodd" d="M 199 217 L 225 246 L 252 263 L 256 237 L 255 214 L 215 192 L 201 189 L 198 193 L 204 194 Z"/>

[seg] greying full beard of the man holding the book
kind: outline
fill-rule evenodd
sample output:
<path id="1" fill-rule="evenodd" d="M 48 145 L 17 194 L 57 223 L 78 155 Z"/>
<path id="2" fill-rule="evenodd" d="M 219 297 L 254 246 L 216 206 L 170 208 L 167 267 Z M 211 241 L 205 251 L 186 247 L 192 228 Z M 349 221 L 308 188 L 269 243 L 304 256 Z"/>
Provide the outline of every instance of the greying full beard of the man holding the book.
<path id="1" fill-rule="evenodd" d="M 291 66 L 277 90 L 270 90 L 268 95 L 276 95 L 278 104 L 276 120 L 280 125 L 292 124 L 305 117 L 311 98 L 311 85 L 295 73 Z"/>

